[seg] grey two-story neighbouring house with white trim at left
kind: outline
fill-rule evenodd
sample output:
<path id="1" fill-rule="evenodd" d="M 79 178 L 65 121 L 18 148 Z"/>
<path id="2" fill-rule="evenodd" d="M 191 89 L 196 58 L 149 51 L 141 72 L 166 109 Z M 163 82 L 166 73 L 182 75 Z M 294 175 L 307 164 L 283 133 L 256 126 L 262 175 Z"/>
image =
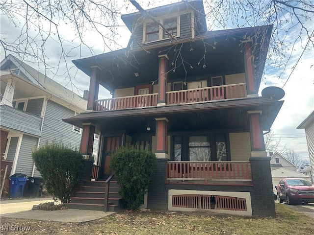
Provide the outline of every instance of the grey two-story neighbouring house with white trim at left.
<path id="1" fill-rule="evenodd" d="M 32 149 L 47 141 L 63 141 L 79 147 L 82 130 L 62 121 L 86 111 L 86 99 L 71 92 L 13 55 L 1 69 L 1 182 L 15 173 L 40 177 L 32 161 Z M 97 152 L 95 141 L 94 154 Z M 5 189 L 8 191 L 6 180 Z"/>

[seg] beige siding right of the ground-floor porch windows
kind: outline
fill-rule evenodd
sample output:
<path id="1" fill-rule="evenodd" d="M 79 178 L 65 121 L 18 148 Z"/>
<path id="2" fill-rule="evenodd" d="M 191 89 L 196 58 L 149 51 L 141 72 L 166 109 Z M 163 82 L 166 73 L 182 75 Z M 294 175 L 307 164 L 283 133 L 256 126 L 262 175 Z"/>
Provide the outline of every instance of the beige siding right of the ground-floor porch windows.
<path id="1" fill-rule="evenodd" d="M 250 133 L 230 133 L 231 161 L 249 161 L 251 157 Z"/>

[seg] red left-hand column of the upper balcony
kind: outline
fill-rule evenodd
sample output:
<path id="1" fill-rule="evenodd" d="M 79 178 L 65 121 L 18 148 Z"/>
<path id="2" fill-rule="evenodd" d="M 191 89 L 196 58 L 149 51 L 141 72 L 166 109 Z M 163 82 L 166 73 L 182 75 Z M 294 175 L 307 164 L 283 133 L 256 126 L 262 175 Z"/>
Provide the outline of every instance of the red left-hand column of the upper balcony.
<path id="1" fill-rule="evenodd" d="M 101 69 L 98 66 L 93 66 L 92 74 L 90 76 L 89 83 L 89 95 L 87 99 L 87 110 L 96 111 L 96 102 L 98 99 L 98 90 L 99 90 L 99 82 L 100 82 L 100 71 Z"/>

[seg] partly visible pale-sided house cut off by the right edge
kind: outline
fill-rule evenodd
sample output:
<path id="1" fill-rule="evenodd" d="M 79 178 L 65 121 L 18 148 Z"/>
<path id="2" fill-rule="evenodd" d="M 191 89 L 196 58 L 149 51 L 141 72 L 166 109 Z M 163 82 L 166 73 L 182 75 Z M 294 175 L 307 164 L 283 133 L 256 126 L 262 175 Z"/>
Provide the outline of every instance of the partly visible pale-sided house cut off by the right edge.
<path id="1" fill-rule="evenodd" d="M 305 118 L 297 129 L 304 129 L 311 163 L 312 182 L 314 182 L 314 111 Z"/>

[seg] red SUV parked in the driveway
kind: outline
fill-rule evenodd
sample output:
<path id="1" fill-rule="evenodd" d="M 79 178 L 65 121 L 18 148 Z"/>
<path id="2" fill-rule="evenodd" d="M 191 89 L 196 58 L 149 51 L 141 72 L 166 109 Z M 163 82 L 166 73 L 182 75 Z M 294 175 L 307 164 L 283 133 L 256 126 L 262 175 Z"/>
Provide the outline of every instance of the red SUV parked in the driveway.
<path id="1" fill-rule="evenodd" d="M 277 186 L 279 202 L 287 200 L 293 203 L 314 202 L 314 185 L 303 178 L 283 178 Z"/>

